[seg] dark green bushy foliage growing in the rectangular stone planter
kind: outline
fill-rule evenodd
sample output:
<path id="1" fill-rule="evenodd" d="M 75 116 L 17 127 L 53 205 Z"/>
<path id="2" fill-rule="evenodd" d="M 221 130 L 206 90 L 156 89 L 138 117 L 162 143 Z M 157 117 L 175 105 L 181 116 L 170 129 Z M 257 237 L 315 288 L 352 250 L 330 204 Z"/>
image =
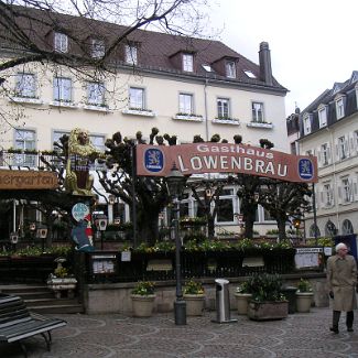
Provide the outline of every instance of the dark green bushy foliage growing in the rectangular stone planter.
<path id="1" fill-rule="evenodd" d="M 278 274 L 257 273 L 248 279 L 248 286 L 252 300 L 258 302 L 285 299 L 281 293 L 282 279 Z"/>

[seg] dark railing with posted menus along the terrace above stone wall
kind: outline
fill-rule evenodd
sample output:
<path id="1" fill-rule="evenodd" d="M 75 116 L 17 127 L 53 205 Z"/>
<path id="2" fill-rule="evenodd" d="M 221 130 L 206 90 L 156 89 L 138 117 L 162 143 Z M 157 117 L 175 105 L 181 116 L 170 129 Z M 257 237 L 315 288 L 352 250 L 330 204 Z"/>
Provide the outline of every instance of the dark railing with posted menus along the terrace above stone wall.
<path id="1" fill-rule="evenodd" d="M 96 251 L 86 253 L 84 282 L 135 282 L 175 280 L 175 252 Z M 294 272 L 294 249 L 248 249 L 227 251 L 183 251 L 182 278 L 235 278 L 254 272 Z"/>

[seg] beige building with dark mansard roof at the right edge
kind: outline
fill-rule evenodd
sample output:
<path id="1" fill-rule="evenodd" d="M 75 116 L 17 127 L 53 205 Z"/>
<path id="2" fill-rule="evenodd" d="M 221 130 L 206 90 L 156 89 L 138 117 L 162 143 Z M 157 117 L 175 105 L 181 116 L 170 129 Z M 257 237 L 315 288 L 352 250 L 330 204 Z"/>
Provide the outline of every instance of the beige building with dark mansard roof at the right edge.
<path id="1" fill-rule="evenodd" d="M 358 231 L 358 72 L 325 90 L 300 115 L 301 154 L 318 159 L 317 235 Z M 314 237 L 313 214 L 306 234 Z"/>

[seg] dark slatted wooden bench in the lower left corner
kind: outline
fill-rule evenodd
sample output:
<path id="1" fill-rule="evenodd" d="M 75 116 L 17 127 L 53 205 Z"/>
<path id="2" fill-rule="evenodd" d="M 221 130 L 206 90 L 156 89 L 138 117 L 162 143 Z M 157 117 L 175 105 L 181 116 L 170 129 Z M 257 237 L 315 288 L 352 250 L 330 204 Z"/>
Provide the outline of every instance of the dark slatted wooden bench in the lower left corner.
<path id="1" fill-rule="evenodd" d="M 63 319 L 30 312 L 19 296 L 0 294 L 0 343 L 18 341 L 25 357 L 28 357 L 28 351 L 22 339 L 41 334 L 50 351 L 51 330 L 66 324 Z"/>

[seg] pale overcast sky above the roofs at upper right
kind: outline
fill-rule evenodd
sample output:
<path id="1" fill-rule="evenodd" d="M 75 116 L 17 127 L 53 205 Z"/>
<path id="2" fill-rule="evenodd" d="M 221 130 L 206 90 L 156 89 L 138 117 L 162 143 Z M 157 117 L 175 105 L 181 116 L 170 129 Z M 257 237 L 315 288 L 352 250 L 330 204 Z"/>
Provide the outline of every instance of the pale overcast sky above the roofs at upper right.
<path id="1" fill-rule="evenodd" d="M 259 44 L 271 50 L 273 76 L 303 110 L 335 82 L 358 70 L 357 0 L 214 0 L 209 1 L 219 40 L 259 63 Z"/>

